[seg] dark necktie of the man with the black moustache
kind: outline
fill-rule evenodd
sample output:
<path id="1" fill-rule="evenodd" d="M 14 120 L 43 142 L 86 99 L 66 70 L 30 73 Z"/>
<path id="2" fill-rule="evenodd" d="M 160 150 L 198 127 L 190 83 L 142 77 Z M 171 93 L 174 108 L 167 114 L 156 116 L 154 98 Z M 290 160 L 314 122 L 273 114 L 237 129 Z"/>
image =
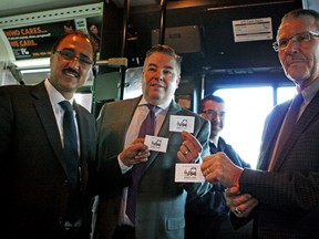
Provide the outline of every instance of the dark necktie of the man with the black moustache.
<path id="1" fill-rule="evenodd" d="M 80 215 L 80 189 L 79 189 L 79 155 L 78 155 L 78 137 L 73 116 L 73 107 L 70 102 L 63 101 L 59 103 L 64 110 L 63 116 L 63 138 L 64 148 L 63 157 L 66 164 L 69 177 L 70 199 L 68 206 L 68 220 L 75 222 Z"/>

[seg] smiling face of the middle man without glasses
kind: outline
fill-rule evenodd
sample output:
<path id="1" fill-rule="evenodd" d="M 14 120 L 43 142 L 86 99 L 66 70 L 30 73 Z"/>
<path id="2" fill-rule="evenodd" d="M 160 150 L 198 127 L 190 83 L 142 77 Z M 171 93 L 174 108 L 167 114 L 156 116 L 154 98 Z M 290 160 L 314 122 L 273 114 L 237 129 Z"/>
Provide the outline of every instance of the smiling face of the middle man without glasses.
<path id="1" fill-rule="evenodd" d="M 142 72 L 143 95 L 150 104 L 171 102 L 179 84 L 176 60 L 163 52 L 146 58 Z"/>

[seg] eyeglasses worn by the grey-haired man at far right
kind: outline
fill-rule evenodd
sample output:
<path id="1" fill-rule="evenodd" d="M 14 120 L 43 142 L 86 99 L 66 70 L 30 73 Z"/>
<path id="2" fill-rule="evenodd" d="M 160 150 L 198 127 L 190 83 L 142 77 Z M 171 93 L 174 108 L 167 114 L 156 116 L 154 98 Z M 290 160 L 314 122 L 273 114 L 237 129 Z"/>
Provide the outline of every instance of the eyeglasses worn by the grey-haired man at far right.
<path id="1" fill-rule="evenodd" d="M 319 33 L 316 33 L 316 32 L 303 32 L 303 33 L 295 34 L 291 38 L 284 38 L 284 39 L 280 39 L 280 40 L 274 42 L 272 43 L 272 48 L 274 48 L 274 50 L 276 52 L 284 51 L 288 46 L 290 40 L 292 40 L 292 43 L 300 44 L 302 42 L 310 41 L 311 37 L 319 37 Z"/>

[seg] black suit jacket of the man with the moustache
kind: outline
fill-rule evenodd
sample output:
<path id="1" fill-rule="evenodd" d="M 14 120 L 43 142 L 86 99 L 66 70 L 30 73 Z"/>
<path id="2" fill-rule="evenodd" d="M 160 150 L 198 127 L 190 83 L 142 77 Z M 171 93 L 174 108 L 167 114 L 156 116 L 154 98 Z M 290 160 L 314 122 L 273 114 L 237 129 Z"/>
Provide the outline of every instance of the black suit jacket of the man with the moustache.
<path id="1" fill-rule="evenodd" d="M 86 230 L 88 238 L 91 220 L 88 184 L 91 184 L 89 175 L 95 175 L 96 169 L 96 129 L 94 117 L 84 107 L 75 104 L 75 111 L 81 142 L 83 231 Z M 68 176 L 44 82 L 0 87 L 0 155 L 4 220 L 1 231 L 6 230 L 8 238 L 22 238 L 19 233 L 23 238 L 60 238 L 69 199 Z"/>

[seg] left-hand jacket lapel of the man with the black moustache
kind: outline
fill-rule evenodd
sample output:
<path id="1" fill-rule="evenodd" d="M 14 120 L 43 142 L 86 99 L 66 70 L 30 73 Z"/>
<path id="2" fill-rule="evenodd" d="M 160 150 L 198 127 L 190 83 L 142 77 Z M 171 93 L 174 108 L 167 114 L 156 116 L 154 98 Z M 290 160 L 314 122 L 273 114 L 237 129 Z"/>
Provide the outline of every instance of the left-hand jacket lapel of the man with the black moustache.
<path id="1" fill-rule="evenodd" d="M 34 107 L 42 122 L 42 126 L 47 133 L 47 137 L 51 144 L 52 150 L 54 152 L 56 158 L 59 159 L 60 164 L 62 165 L 62 167 L 66 173 L 66 165 L 62 159 L 63 152 L 62 152 L 60 133 L 52 110 L 52 105 L 44 86 L 44 82 L 41 82 L 40 84 L 35 85 L 31 94 L 35 98 Z"/>

